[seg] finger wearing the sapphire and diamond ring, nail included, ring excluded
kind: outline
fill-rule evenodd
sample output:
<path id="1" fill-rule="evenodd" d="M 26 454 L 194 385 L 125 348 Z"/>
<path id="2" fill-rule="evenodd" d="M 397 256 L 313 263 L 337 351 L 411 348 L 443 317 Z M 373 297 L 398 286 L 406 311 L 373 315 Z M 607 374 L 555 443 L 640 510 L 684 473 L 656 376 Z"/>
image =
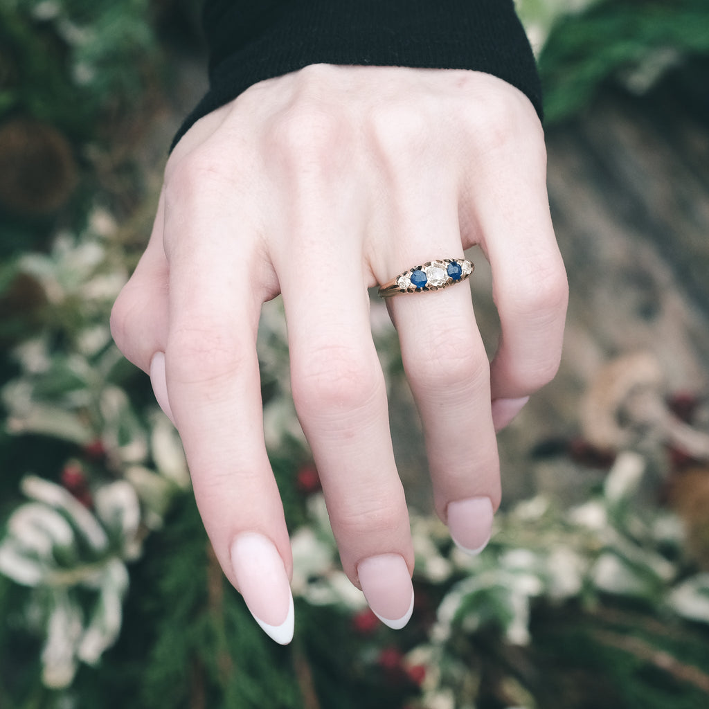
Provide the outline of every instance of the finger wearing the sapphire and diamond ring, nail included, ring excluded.
<path id="1" fill-rule="evenodd" d="M 443 237 L 433 247 L 427 245 L 430 239 L 411 240 L 415 246 L 409 267 L 417 256 L 459 254 L 457 224 L 439 227 L 438 232 Z M 490 537 L 501 485 L 489 362 L 470 289 L 463 285 L 402 294 L 391 298 L 388 306 L 423 425 L 436 511 L 459 547 L 479 552 Z"/>

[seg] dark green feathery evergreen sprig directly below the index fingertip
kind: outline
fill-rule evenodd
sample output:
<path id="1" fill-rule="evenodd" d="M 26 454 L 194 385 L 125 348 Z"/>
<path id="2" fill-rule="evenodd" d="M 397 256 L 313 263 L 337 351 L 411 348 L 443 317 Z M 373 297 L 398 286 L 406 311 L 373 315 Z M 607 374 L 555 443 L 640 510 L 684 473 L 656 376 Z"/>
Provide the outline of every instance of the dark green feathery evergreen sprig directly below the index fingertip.
<path id="1" fill-rule="evenodd" d="M 284 709 L 301 706 L 289 651 L 264 636 L 224 578 L 191 496 L 175 507 L 150 558 L 138 599 L 154 628 L 135 687 L 141 706 L 184 707 L 195 693 L 217 709 L 267 706 L 274 695 Z"/>

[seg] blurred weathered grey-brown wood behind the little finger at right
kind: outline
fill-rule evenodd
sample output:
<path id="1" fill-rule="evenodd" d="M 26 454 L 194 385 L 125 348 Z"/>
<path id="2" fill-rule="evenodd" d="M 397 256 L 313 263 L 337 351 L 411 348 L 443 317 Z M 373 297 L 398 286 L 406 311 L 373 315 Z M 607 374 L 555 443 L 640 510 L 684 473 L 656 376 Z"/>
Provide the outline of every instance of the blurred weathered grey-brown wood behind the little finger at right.
<path id="1" fill-rule="evenodd" d="M 667 393 L 709 393 L 709 111 L 673 87 L 636 98 L 608 91 L 547 131 L 549 201 L 569 274 L 562 367 L 499 437 L 505 503 L 546 491 L 578 501 L 602 473 L 535 462 L 540 441 L 584 435 L 580 409 L 603 368 L 642 352 Z M 476 317 L 491 345 L 491 281 L 474 257 Z M 396 418 L 402 419 L 401 416 Z M 393 420 L 406 461 L 411 420 Z M 420 480 L 413 475 L 413 479 Z M 425 474 L 422 472 L 422 477 Z M 426 506 L 425 483 L 408 498 Z"/>

